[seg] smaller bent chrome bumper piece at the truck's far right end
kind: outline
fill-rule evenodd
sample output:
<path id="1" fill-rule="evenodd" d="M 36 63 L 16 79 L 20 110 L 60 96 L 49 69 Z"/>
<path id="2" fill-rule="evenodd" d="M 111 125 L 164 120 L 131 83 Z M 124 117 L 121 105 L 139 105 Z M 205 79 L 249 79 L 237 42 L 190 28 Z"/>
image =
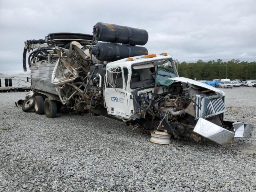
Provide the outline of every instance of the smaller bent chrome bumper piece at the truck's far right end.
<path id="1" fill-rule="evenodd" d="M 235 138 L 250 138 L 254 126 L 252 124 L 235 122 L 233 123 Z"/>

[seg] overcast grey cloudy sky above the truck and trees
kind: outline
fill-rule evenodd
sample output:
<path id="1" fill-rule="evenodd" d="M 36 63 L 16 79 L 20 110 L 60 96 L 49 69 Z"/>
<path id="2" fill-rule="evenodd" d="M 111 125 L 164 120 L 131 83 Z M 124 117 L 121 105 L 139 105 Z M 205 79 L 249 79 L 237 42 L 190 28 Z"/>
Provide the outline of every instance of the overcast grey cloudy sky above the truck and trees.
<path id="1" fill-rule="evenodd" d="M 97 22 L 146 29 L 149 53 L 182 61 L 256 60 L 255 0 L 0 0 L 0 73 L 22 72 L 24 41 L 92 34 Z"/>

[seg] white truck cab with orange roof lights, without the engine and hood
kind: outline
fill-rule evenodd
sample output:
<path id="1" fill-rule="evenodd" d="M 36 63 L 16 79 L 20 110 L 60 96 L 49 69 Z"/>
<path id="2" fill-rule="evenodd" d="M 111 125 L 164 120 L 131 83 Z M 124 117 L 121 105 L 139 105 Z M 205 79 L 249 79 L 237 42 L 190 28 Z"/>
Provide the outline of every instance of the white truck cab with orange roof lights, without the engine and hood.
<path id="1" fill-rule="evenodd" d="M 172 57 L 166 53 L 135 56 L 108 63 L 104 82 L 104 99 L 108 114 L 124 119 L 133 118 L 135 112 L 133 94 L 137 92 L 138 96 L 146 99 L 146 102 L 151 100 L 154 86 L 150 88 L 147 86 L 155 83 L 156 72 L 158 72 L 158 82 L 166 82 L 168 78 L 178 77 Z M 172 82 L 170 80 L 170 83 Z M 158 94 L 161 92 L 164 92 L 163 87 L 158 89 Z"/>

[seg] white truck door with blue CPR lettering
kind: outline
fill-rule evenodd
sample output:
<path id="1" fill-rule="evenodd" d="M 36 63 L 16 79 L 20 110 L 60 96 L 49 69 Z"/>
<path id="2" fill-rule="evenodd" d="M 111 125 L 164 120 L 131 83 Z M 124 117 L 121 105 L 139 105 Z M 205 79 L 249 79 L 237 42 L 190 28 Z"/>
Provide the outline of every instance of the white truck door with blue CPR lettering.
<path id="1" fill-rule="evenodd" d="M 126 84 L 121 67 L 106 69 L 104 98 L 108 114 L 128 117 Z"/>

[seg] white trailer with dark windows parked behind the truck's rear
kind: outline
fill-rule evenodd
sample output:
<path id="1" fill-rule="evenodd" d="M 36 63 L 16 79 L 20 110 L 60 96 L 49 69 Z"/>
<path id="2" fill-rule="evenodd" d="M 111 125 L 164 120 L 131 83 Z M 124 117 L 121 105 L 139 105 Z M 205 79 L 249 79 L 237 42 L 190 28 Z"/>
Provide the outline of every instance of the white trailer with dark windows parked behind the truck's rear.
<path id="1" fill-rule="evenodd" d="M 30 90 L 31 74 L 1 74 L 0 91 L 17 92 Z"/>

